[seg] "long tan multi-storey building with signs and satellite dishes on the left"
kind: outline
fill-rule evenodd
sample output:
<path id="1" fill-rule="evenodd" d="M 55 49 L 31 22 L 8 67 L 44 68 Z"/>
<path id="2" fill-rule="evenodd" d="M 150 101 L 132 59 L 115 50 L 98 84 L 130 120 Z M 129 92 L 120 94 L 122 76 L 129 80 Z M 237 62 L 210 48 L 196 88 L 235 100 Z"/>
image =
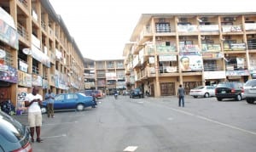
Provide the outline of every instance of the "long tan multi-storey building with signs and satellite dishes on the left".
<path id="1" fill-rule="evenodd" d="M 84 58 L 48 0 L 0 1 L 0 93 L 19 99 L 40 86 L 54 93 L 84 89 Z"/>

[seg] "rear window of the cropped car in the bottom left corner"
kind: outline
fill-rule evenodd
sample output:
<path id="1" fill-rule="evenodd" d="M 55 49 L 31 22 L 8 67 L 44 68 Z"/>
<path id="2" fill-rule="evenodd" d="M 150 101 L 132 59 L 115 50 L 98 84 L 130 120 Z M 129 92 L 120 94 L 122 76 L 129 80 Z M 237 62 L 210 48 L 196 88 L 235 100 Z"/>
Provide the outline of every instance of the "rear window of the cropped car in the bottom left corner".
<path id="1" fill-rule="evenodd" d="M 26 127 L 1 111 L 0 124 L 0 136 L 5 137 L 10 142 L 17 142 L 23 138 Z"/>

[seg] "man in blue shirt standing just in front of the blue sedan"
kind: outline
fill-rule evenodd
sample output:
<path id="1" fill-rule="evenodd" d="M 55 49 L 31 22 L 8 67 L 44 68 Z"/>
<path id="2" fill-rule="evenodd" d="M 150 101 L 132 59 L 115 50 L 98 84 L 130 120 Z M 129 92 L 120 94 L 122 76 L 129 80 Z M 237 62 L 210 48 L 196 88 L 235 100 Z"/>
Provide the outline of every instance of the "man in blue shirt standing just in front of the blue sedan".
<path id="1" fill-rule="evenodd" d="M 48 117 L 54 118 L 55 93 L 52 93 L 51 89 L 49 89 L 48 93 L 45 94 L 45 100 L 47 102 L 47 115 Z"/>

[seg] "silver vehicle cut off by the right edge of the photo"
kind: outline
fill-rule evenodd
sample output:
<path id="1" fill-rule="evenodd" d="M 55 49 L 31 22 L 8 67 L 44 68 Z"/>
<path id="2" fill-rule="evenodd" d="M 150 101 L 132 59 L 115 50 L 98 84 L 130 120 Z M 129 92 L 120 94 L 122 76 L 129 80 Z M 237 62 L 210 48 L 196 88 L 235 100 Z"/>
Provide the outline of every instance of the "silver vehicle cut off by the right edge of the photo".
<path id="1" fill-rule="evenodd" d="M 243 89 L 247 103 L 253 104 L 256 100 L 256 79 L 248 80 Z"/>

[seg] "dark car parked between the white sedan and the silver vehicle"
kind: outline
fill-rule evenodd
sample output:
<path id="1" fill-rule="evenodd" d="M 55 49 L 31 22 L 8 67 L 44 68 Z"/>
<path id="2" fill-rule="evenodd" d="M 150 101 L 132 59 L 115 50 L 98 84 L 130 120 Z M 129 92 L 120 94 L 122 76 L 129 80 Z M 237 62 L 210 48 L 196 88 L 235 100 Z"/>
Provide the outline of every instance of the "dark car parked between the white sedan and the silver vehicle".
<path id="1" fill-rule="evenodd" d="M 241 82 L 221 82 L 215 88 L 215 96 L 218 101 L 222 99 L 236 99 L 241 101 L 243 93 L 243 83 Z"/>

